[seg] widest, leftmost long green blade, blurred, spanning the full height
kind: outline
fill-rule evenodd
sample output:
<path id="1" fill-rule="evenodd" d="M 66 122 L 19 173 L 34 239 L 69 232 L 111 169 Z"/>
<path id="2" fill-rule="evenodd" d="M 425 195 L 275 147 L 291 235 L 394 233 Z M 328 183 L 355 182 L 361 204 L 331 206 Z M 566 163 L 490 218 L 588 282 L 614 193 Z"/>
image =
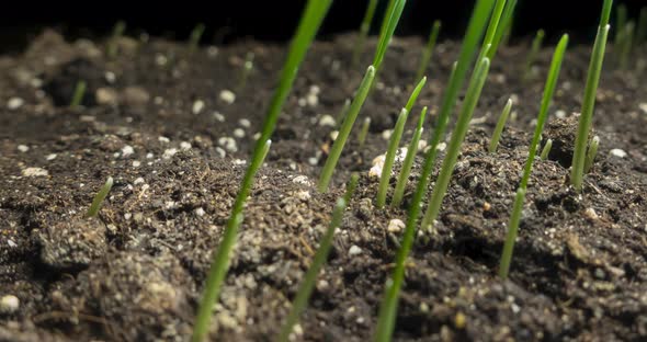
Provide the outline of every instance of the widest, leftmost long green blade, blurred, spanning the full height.
<path id="1" fill-rule="evenodd" d="M 321 21 L 326 16 L 331 2 L 332 0 L 309 0 L 306 4 L 304 15 L 300 19 L 296 34 L 292 39 L 287 53 L 287 59 L 281 71 L 279 87 L 270 102 L 268 115 L 262 125 L 261 136 L 257 140 L 257 145 L 253 149 L 251 163 L 247 168 L 245 176 L 242 178 L 242 184 L 236 196 L 236 201 L 234 202 L 234 208 L 229 216 L 229 220 L 227 221 L 220 244 L 213 254 L 212 266 L 207 273 L 204 294 L 200 301 L 197 316 L 193 327 L 193 342 L 203 341 L 208 332 L 213 307 L 216 300 L 218 300 L 220 286 L 227 274 L 229 258 L 236 242 L 238 227 L 242 221 L 242 209 L 251 189 L 253 178 L 270 149 L 270 137 L 274 132 L 283 104 L 292 89 L 298 67 L 319 30 Z"/>

